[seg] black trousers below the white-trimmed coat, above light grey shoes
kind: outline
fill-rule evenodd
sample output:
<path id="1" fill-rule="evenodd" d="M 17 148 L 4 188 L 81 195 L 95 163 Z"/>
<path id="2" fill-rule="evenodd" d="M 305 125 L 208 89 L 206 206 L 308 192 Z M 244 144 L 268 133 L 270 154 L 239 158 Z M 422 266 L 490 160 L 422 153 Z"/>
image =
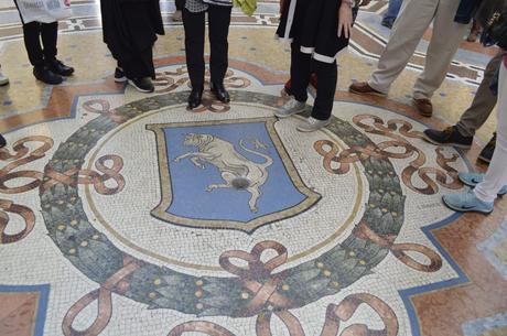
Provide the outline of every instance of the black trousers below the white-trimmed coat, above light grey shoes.
<path id="1" fill-rule="evenodd" d="M 319 88 L 313 105 L 312 117 L 326 120 L 333 111 L 338 69 L 336 62 L 324 63 L 312 58 L 312 55 L 301 52 L 298 43 L 291 45 L 291 89 L 290 93 L 298 101 L 306 101 L 308 87 L 312 73 L 316 74 Z"/>

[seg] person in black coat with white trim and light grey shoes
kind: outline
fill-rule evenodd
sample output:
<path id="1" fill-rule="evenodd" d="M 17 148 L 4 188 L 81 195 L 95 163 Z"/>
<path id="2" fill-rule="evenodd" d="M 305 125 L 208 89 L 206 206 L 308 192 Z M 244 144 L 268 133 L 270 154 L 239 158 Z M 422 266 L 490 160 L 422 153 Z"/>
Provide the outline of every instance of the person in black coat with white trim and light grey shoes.
<path id="1" fill-rule="evenodd" d="M 291 96 L 274 116 L 285 118 L 305 110 L 313 69 L 319 88 L 312 115 L 296 129 L 316 131 L 331 120 L 337 82 L 336 57 L 348 45 L 356 2 L 290 0 L 281 1 L 280 6 L 282 17 L 277 36 L 291 42 Z"/>

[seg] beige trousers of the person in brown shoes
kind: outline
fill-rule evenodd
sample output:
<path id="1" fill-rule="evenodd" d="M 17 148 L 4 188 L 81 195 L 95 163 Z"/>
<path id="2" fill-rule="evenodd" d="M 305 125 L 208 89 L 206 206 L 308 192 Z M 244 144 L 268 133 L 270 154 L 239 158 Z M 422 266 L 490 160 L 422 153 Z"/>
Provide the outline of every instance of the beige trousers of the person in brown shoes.
<path id="1" fill-rule="evenodd" d="M 424 32 L 433 22 L 433 35 L 428 46 L 424 71 L 413 86 L 413 98 L 430 99 L 445 79 L 466 24 L 455 23 L 460 0 L 408 0 L 396 20 L 392 34 L 368 84 L 387 94 L 406 68 Z"/>

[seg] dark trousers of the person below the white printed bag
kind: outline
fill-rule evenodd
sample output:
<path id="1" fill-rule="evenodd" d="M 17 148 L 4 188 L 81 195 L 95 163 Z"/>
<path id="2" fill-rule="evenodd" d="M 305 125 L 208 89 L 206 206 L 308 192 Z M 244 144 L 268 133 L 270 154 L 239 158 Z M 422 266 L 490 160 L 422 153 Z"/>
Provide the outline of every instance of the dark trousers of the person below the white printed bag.
<path id="1" fill-rule="evenodd" d="M 23 24 L 24 46 L 33 66 L 43 66 L 56 58 L 56 40 L 58 37 L 58 22 L 30 22 Z M 41 45 L 42 39 L 42 45 Z"/>

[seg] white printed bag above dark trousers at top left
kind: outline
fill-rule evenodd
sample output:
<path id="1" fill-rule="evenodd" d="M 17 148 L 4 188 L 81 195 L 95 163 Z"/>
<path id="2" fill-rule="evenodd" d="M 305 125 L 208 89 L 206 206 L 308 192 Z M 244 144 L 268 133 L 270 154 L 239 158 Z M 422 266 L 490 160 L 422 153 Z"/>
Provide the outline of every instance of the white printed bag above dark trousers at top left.
<path id="1" fill-rule="evenodd" d="M 17 0 L 23 23 L 51 23 L 72 17 L 71 6 L 65 0 Z"/>

